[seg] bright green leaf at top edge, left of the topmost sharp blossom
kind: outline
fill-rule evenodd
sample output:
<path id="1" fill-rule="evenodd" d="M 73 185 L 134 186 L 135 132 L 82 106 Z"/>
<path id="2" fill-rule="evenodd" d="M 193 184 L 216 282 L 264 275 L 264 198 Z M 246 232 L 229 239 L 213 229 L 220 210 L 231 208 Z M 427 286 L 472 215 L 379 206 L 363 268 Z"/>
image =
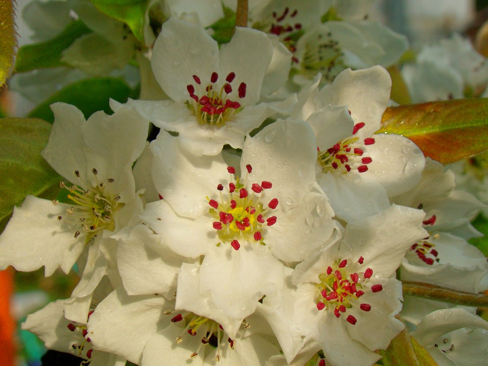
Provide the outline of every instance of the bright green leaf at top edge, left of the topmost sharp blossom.
<path id="1" fill-rule="evenodd" d="M 134 36 L 144 42 L 144 17 L 148 0 L 91 0 L 91 2 L 102 13 L 127 24 Z"/>

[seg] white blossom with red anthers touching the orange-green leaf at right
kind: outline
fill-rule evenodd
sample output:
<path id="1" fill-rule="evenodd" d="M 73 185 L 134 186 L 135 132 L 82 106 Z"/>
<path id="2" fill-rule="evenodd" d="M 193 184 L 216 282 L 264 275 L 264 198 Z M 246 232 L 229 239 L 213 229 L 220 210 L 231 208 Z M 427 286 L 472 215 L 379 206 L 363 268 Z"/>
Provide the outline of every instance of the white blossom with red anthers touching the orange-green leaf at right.
<path id="1" fill-rule="evenodd" d="M 317 145 L 317 181 L 337 217 L 349 222 L 389 206 L 421 178 L 425 158 L 410 140 L 376 134 L 391 80 L 381 66 L 345 70 L 319 91 L 299 95 L 291 117 L 308 122 Z"/>

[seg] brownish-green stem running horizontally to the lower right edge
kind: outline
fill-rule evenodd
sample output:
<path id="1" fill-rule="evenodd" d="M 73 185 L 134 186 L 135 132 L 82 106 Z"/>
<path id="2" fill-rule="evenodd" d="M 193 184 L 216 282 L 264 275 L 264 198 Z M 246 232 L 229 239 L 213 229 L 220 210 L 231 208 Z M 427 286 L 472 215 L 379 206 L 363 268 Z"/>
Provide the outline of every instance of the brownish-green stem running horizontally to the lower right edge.
<path id="1" fill-rule="evenodd" d="M 488 296 L 451 288 L 426 284 L 423 282 L 402 281 L 403 294 L 423 297 L 429 300 L 465 306 L 488 306 Z"/>

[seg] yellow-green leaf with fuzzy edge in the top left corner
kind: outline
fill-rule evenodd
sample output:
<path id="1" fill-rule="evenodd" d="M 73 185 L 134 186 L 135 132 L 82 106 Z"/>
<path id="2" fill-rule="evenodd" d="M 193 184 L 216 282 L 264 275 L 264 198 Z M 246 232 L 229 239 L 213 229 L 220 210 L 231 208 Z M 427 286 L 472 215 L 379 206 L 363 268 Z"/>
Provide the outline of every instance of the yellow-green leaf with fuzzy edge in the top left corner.
<path id="1" fill-rule="evenodd" d="M 13 0 L 0 0 L 0 87 L 12 73 L 17 38 Z"/>

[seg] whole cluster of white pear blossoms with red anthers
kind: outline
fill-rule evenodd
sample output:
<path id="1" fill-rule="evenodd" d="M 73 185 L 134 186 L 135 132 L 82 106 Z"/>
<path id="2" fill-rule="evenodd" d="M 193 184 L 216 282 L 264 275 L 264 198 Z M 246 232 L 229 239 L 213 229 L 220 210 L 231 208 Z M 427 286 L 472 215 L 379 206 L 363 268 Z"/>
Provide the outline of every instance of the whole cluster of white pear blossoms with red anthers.
<path id="1" fill-rule="evenodd" d="M 359 20 L 369 1 L 251 3 L 249 27 L 221 45 L 203 28 L 220 1 L 183 3 L 165 1 L 147 55 L 165 99 L 87 120 L 52 105 L 42 156 L 63 193 L 14 210 L 0 268 L 76 264 L 80 282 L 24 329 L 90 365 L 370 366 L 405 327 L 400 280 L 488 288 L 467 243 L 485 206 L 406 137 L 376 134 L 384 66 L 407 43 Z M 449 306 L 405 297 L 436 360 L 443 326 L 452 344 L 463 330 L 431 325 L 434 311 L 487 337 L 472 308 Z"/>

